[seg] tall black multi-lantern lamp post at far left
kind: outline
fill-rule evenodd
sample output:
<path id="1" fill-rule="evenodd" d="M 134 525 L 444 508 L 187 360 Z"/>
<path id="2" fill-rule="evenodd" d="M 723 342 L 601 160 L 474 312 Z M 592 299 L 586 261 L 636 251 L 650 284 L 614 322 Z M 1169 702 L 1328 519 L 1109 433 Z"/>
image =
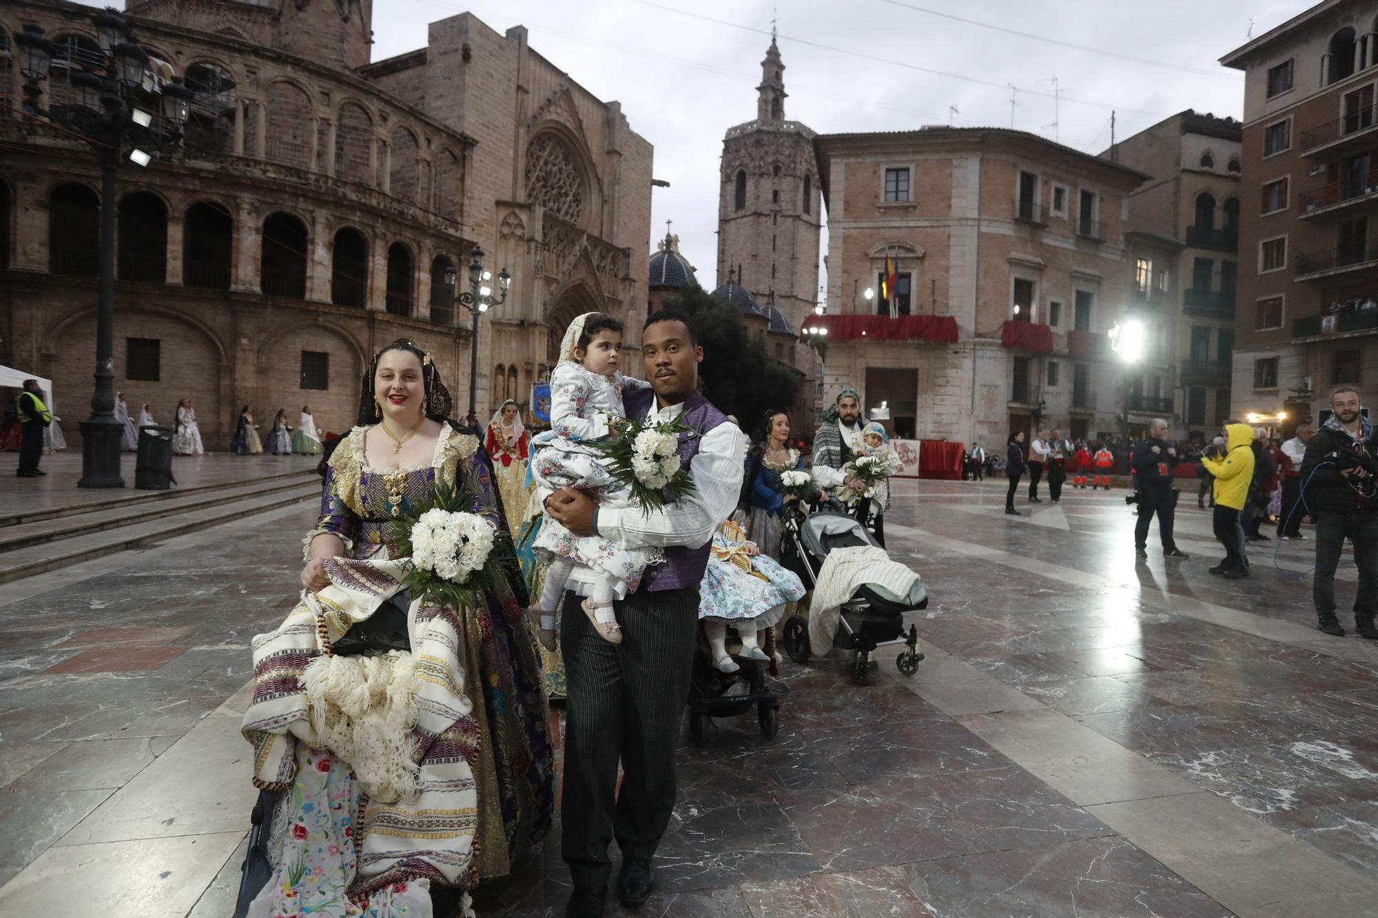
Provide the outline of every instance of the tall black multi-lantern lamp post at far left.
<path id="1" fill-rule="evenodd" d="M 114 10 L 96 12 L 103 61 L 95 70 L 70 73 L 74 103 L 44 109 L 40 83 L 48 77 L 52 43 L 34 25 L 15 34 L 23 77 L 23 110 L 80 135 L 101 161 L 101 243 L 95 336 L 95 390 L 91 416 L 81 422 L 80 488 L 123 488 L 120 440 L 124 425 L 114 416 L 114 221 L 119 167 L 128 160 L 147 165 L 150 152 L 182 142 L 192 91 L 179 79 L 160 84 L 149 70 L 149 54 L 134 43 L 128 23 Z M 70 62 L 69 62 L 70 65 Z"/>

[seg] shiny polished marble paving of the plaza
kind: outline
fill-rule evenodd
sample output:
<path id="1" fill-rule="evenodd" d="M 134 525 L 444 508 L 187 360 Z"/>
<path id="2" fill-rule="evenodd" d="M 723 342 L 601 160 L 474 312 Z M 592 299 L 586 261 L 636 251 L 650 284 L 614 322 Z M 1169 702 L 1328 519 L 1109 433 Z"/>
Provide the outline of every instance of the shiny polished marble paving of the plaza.
<path id="1" fill-rule="evenodd" d="M 1021 518 L 1003 481 L 897 491 L 886 532 L 932 597 L 927 659 L 905 678 L 882 653 L 865 686 L 787 660 L 773 742 L 752 715 L 703 748 L 686 729 L 639 914 L 1378 914 L 1378 646 L 1315 630 L 1312 542 L 1254 547 L 1225 582 L 1193 493 L 1192 557 L 1164 562 L 1155 528 L 1135 564 L 1122 491 Z M 313 517 L 0 584 L 0 912 L 230 914 L 248 642 L 294 602 Z M 1348 557 L 1339 589 L 1344 606 Z M 557 819 L 475 904 L 553 917 L 568 888 Z"/>

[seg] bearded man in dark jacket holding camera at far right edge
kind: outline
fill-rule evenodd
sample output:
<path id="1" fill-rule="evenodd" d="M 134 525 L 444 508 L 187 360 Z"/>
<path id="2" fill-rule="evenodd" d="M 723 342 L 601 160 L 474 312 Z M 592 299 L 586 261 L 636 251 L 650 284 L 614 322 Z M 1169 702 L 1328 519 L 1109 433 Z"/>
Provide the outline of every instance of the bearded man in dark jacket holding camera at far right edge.
<path id="1" fill-rule="evenodd" d="M 1330 408 L 1334 414 L 1306 442 L 1301 466 L 1302 499 L 1316 517 L 1316 627 L 1335 637 L 1345 633 L 1335 618 L 1335 568 L 1349 539 L 1359 568 L 1355 630 L 1378 640 L 1378 437 L 1352 386 L 1331 391 Z"/>

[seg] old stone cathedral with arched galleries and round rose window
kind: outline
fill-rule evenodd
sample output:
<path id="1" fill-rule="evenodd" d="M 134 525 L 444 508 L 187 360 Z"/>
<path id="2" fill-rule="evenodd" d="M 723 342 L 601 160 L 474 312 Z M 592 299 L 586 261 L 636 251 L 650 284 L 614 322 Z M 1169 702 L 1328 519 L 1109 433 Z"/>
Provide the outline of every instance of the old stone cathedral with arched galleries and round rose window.
<path id="1" fill-rule="evenodd" d="M 91 7 L 0 10 L 0 363 L 54 379 L 79 442 L 95 351 L 98 165 L 15 112 L 12 33 L 58 45 L 41 103 L 70 101 Z M 569 320 L 646 302 L 652 147 L 535 52 L 469 14 L 368 63 L 369 0 L 130 4 L 141 44 L 196 92 L 183 147 L 120 170 L 116 389 L 169 420 L 190 397 L 208 448 L 243 404 L 354 420 L 369 356 L 398 336 L 469 398 L 467 262 L 513 274 L 480 324 L 478 412 L 525 401 Z M 321 65 L 342 61 L 344 66 Z M 453 272 L 453 273 L 452 273 Z"/>

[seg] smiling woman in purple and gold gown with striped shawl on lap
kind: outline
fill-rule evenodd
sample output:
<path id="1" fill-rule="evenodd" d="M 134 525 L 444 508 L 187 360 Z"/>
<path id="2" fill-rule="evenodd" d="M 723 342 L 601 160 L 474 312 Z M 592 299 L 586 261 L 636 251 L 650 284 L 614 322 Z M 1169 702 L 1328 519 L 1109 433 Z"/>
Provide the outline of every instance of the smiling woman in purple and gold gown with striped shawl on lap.
<path id="1" fill-rule="evenodd" d="M 473 915 L 467 892 L 506 875 L 550 827 L 553 746 L 536 642 L 513 589 L 520 576 L 496 579 L 471 602 L 413 600 L 400 590 L 408 560 L 394 555 L 387 524 L 424 509 L 438 487 L 500 527 L 492 467 L 451 409 L 430 354 L 415 343 L 394 342 L 373 358 L 360 426 L 327 463 L 321 516 L 306 538 L 303 602 L 277 631 L 254 640 L 256 685 L 244 733 L 255 747 L 255 783 L 291 793 L 274 823 L 274 874 L 252 918 Z M 493 551 L 515 568 L 506 531 Z M 351 715 L 354 732 L 336 733 L 343 739 L 333 744 L 311 742 L 318 718 L 339 708 L 311 703 L 309 663 L 397 659 L 322 657 L 347 627 L 395 608 L 390 602 L 405 609 L 394 615 L 407 622 L 416 669 L 409 677 L 405 667 L 402 677 L 393 670 L 389 697 L 411 691 L 415 706 L 369 733 L 386 740 L 382 751 L 376 743 L 353 754 L 336 747 L 357 743 L 350 737 L 373 724 L 371 713 Z M 342 704 L 353 697 L 351 684 L 321 691 L 327 700 L 340 692 Z M 379 758 L 398 761 L 400 771 L 380 772 Z M 371 783 L 368 775 L 389 780 Z M 460 892 L 459 901 L 444 899 Z M 434 911 L 427 897 L 437 900 Z"/>

